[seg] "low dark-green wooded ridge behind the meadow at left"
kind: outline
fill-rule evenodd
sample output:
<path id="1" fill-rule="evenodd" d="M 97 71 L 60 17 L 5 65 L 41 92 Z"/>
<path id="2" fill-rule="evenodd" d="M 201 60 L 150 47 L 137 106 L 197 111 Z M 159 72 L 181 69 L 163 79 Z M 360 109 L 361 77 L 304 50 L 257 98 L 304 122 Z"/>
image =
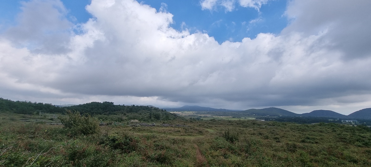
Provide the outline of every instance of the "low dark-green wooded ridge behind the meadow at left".
<path id="1" fill-rule="evenodd" d="M 44 104 L 30 101 L 12 101 L 0 98 L 0 112 L 9 111 L 17 114 L 60 113 L 66 110 L 78 111 L 81 114 L 90 115 L 120 115 L 118 120 L 139 119 L 140 121 L 160 121 L 179 118 L 166 110 L 138 105 L 115 105 L 113 102 L 90 102 L 70 107 L 56 107 L 52 104 Z M 102 116 L 99 116 L 102 117 Z"/>

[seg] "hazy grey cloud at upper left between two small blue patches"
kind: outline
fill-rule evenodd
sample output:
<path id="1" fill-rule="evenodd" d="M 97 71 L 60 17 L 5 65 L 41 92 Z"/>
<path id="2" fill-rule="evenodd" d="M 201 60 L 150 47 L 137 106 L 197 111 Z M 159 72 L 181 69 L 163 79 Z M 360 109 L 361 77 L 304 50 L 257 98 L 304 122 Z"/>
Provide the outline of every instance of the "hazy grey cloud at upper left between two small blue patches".
<path id="1" fill-rule="evenodd" d="M 8 40 L 32 49 L 33 52 L 60 53 L 68 52 L 70 23 L 66 18 L 66 9 L 58 0 L 22 2 L 18 17 L 19 24 L 6 31 Z"/>

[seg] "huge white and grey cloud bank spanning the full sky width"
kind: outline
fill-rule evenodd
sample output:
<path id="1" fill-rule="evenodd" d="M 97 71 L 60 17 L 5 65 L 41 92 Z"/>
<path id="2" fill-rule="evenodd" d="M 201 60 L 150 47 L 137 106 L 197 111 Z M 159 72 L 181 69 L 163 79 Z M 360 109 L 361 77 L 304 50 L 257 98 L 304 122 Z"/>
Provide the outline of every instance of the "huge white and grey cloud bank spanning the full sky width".
<path id="1" fill-rule="evenodd" d="M 33 8 L 36 4 L 59 13 L 40 19 L 44 16 L 34 11 L 38 10 Z M 132 0 L 92 0 L 86 9 L 95 19 L 82 24 L 83 33 L 76 35 L 66 32 L 73 25 L 63 18 L 64 10 L 58 10 L 63 6 L 51 4 L 59 2 L 24 4 L 20 24 L 0 36 L 0 92 L 4 98 L 33 97 L 57 104 L 114 101 L 239 109 L 286 106 L 290 111 L 295 111 L 295 106 L 318 106 L 338 112 L 341 107 L 371 105 L 370 99 L 355 98 L 371 94 L 369 39 L 361 37 L 370 35 L 366 30 L 371 26 L 364 22 L 370 14 L 362 6 L 371 5 L 366 3 L 354 7 L 364 10 L 362 18 L 355 17 L 362 13 L 359 11 L 338 17 L 343 11 L 336 8 L 342 6 L 330 6 L 331 12 L 322 13 L 324 18 L 316 21 L 319 17 L 314 16 L 321 10 L 309 8 L 317 6 L 295 1 L 286 13 L 296 20 L 280 35 L 260 33 L 255 39 L 222 44 L 206 32 L 178 32 L 169 26 L 173 23 L 171 13 L 157 12 Z M 28 25 L 22 21 L 24 17 L 40 23 Z M 313 23 L 301 25 L 308 20 Z M 355 30 L 348 32 L 352 28 Z M 35 31 L 41 37 L 19 37 L 15 30 Z M 335 36 L 338 34 L 345 38 Z M 64 37 L 63 52 L 47 47 L 48 42 L 61 44 L 60 36 Z M 352 48 L 339 47 L 349 41 L 357 43 L 364 55 L 344 59 L 354 56 Z"/>

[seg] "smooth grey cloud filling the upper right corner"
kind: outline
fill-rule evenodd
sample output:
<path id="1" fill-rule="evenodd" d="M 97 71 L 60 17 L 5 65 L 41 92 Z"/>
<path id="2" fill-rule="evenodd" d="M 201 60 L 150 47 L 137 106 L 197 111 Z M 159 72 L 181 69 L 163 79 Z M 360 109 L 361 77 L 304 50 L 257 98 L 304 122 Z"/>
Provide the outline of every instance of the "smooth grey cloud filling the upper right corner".
<path id="1" fill-rule="evenodd" d="M 313 35 L 326 31 L 323 40 L 329 40 L 334 49 L 347 52 L 346 58 L 370 55 L 371 1 L 361 0 L 349 5 L 347 1 L 290 1 L 286 16 L 291 24 L 282 34 L 300 31 Z"/>

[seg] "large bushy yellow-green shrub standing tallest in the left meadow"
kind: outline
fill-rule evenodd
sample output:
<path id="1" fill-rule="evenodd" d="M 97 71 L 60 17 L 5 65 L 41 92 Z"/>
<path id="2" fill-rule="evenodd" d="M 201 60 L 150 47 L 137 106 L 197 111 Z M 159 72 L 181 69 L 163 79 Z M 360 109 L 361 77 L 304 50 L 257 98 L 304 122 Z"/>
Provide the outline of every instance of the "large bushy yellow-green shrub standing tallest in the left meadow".
<path id="1" fill-rule="evenodd" d="M 82 116 L 77 111 L 66 111 L 67 117 L 58 116 L 60 122 L 74 134 L 95 134 L 99 130 L 98 119 L 90 115 Z"/>

